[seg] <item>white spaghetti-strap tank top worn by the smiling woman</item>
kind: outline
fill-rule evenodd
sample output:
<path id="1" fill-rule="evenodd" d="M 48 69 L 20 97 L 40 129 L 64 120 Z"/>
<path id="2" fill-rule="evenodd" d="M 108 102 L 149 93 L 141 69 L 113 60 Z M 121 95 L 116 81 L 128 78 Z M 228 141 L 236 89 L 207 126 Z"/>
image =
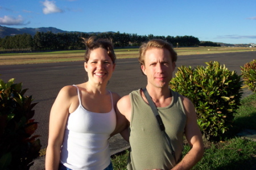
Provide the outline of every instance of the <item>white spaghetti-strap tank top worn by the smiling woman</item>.
<path id="1" fill-rule="evenodd" d="M 95 113 L 82 107 L 79 88 L 76 88 L 79 107 L 68 116 L 60 162 L 73 170 L 104 169 L 110 164 L 108 139 L 116 125 L 112 94 L 110 92 L 112 110 Z"/>

